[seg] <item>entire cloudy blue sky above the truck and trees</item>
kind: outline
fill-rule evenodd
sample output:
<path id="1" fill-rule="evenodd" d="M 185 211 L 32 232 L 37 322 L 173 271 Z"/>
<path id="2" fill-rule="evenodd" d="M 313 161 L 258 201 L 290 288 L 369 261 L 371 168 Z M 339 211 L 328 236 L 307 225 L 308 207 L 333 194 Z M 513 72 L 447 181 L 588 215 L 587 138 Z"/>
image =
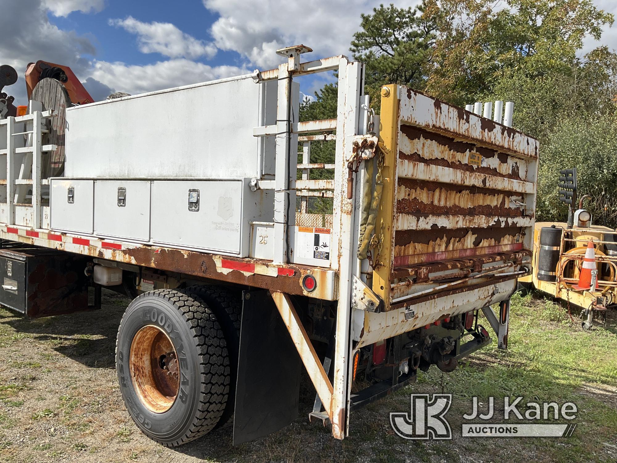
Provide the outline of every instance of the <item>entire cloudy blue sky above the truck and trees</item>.
<path id="1" fill-rule="evenodd" d="M 70 66 L 94 99 L 131 94 L 270 69 L 278 48 L 305 44 L 304 59 L 347 54 L 370 0 L 0 0 L 0 64 L 21 76 L 38 59 Z M 399 7 L 419 0 L 394 0 Z M 617 1 L 595 0 L 617 13 Z M 505 2 L 497 0 L 496 7 Z M 617 28 L 602 40 L 617 48 Z M 312 95 L 331 76 L 300 80 Z M 23 78 L 7 87 L 25 103 Z"/>

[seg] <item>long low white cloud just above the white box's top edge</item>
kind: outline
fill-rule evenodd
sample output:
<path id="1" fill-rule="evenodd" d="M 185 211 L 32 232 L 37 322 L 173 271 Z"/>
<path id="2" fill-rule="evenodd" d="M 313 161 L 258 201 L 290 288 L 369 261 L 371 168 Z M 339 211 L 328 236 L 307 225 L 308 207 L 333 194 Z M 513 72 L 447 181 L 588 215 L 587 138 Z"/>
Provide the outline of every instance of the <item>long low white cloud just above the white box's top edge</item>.
<path id="1" fill-rule="evenodd" d="M 191 85 L 249 73 L 235 66 L 209 66 L 188 59 L 170 59 L 143 66 L 94 61 L 89 77 L 132 95 Z"/>

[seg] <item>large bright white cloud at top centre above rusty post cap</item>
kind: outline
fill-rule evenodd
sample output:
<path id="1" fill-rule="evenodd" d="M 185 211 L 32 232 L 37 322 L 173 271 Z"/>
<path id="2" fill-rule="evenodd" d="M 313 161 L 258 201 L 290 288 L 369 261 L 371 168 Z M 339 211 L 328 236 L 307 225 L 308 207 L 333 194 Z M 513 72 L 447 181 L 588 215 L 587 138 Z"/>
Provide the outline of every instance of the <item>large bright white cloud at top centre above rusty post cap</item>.
<path id="1" fill-rule="evenodd" d="M 282 58 L 276 49 L 304 44 L 314 57 L 350 55 L 349 43 L 360 27 L 360 14 L 378 2 L 369 0 L 202 0 L 220 15 L 210 33 L 218 48 L 236 51 L 261 69 L 275 67 Z M 395 0 L 395 6 L 415 6 L 420 0 Z M 311 59 L 304 56 L 303 59 Z"/>

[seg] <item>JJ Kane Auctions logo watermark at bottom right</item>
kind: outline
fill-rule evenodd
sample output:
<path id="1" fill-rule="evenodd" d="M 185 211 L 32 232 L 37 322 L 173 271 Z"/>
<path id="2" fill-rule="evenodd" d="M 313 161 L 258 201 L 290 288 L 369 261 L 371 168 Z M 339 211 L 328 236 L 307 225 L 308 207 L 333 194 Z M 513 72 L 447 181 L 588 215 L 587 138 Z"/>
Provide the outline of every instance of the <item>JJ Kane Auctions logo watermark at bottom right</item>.
<path id="1" fill-rule="evenodd" d="M 479 413 L 478 398 L 473 398 L 472 410 L 463 415 L 464 420 L 474 420 L 473 423 L 463 423 L 463 437 L 569 437 L 574 432 L 576 424 L 538 423 L 547 420 L 573 420 L 578 409 L 571 402 L 559 406 L 555 402 L 529 402 L 525 408 L 517 397 L 510 401 L 503 398 L 503 419 L 524 420 L 522 423 L 487 423 L 495 417 L 495 398 L 489 398 L 488 411 Z M 452 439 L 450 423 L 445 414 L 452 404 L 452 394 L 411 395 L 411 412 L 392 412 L 390 423 L 395 433 L 404 439 Z M 479 421 L 478 421 L 479 420 Z"/>

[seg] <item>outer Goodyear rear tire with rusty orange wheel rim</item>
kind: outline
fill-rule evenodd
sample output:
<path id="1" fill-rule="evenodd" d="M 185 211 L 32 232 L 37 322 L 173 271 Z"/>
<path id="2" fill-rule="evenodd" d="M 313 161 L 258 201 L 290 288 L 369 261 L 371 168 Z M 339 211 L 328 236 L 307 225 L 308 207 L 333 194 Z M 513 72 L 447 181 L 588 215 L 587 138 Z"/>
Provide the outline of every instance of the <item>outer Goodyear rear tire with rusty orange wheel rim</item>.
<path id="1" fill-rule="evenodd" d="M 131 302 L 118 329 L 116 369 L 135 424 L 168 447 L 208 433 L 225 411 L 226 341 L 193 291 L 150 291 Z"/>

